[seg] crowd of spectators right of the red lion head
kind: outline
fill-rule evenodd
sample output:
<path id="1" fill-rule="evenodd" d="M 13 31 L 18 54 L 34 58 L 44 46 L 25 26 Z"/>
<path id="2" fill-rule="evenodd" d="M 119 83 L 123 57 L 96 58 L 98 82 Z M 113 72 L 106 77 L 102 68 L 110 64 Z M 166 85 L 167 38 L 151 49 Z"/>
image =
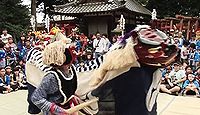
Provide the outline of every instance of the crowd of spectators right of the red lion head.
<path id="1" fill-rule="evenodd" d="M 197 95 L 200 92 L 200 36 L 185 39 L 171 30 L 169 41 L 180 48 L 180 60 L 162 69 L 160 91 L 173 95 Z"/>

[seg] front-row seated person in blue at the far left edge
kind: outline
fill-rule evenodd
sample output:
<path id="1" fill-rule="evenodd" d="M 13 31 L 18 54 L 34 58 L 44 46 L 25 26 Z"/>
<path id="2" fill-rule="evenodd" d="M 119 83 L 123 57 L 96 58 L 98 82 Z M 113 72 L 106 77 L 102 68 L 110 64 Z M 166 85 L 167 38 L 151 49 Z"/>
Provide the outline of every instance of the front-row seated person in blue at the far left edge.
<path id="1" fill-rule="evenodd" d="M 0 68 L 0 93 L 9 93 L 12 88 L 10 87 L 10 78 L 5 75 L 4 68 Z"/>

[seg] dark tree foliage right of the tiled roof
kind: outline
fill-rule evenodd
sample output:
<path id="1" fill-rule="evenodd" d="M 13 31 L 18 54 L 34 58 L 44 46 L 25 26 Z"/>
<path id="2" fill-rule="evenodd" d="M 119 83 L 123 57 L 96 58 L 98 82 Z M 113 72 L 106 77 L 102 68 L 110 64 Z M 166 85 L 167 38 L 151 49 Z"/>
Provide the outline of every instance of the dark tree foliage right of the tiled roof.
<path id="1" fill-rule="evenodd" d="M 147 0 L 149 10 L 156 9 L 158 16 L 174 17 L 176 14 L 185 16 L 200 16 L 199 0 Z"/>

